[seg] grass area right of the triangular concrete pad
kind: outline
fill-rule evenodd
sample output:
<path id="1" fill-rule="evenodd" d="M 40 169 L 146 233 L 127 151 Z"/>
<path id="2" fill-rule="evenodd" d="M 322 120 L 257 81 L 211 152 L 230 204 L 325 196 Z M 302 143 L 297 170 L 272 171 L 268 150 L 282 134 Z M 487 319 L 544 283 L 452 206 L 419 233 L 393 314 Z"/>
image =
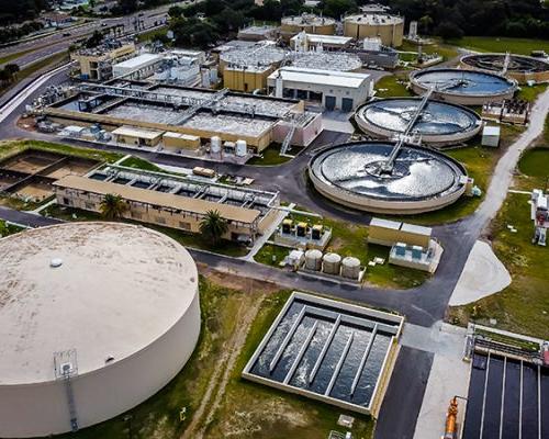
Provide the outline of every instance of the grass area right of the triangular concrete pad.
<path id="1" fill-rule="evenodd" d="M 530 241 L 528 199 L 509 193 L 491 228 L 494 251 L 513 278 L 511 285 L 473 304 L 449 308 L 450 322 L 490 326 L 490 318 L 495 318 L 497 328 L 549 339 L 548 250 Z M 518 232 L 511 233 L 507 224 Z"/>

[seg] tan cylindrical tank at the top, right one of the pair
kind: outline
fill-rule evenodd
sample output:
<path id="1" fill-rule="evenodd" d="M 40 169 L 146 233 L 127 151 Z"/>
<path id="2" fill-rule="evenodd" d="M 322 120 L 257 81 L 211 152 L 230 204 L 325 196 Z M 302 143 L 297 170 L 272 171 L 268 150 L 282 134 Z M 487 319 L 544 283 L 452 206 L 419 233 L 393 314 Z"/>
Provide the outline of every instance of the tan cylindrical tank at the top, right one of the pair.
<path id="1" fill-rule="evenodd" d="M 344 18 L 344 35 L 355 40 L 381 38 L 384 46 L 400 47 L 404 35 L 404 18 L 362 12 Z"/>

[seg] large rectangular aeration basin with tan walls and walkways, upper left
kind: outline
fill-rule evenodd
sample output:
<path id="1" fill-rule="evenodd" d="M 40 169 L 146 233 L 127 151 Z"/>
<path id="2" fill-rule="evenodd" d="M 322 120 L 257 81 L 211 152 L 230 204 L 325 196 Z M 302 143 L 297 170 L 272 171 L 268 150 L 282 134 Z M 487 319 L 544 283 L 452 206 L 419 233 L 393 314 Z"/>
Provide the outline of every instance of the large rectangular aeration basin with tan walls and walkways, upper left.
<path id="1" fill-rule="evenodd" d="M 322 114 L 305 111 L 303 102 L 295 100 L 132 82 L 85 83 L 76 95 L 35 113 L 64 125 L 186 134 L 200 137 L 202 145 L 214 136 L 225 143 L 244 140 L 255 153 L 272 142 L 283 143 L 290 134 L 291 145 L 307 146 L 322 131 Z M 147 145 L 147 139 L 138 144 Z"/>

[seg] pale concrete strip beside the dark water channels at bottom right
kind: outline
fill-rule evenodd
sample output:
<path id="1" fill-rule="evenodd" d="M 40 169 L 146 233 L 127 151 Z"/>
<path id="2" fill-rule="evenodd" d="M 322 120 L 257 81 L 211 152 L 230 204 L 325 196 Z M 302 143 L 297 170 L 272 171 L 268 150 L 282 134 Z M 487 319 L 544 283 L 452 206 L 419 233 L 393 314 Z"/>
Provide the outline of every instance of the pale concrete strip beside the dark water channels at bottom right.
<path id="1" fill-rule="evenodd" d="M 435 356 L 422 409 L 417 417 L 414 439 L 440 439 L 445 434 L 446 413 L 453 396 L 467 396 L 469 363 L 461 359 Z M 466 404 L 458 399 L 458 419 L 463 419 Z M 461 426 L 458 425 L 458 428 Z"/>

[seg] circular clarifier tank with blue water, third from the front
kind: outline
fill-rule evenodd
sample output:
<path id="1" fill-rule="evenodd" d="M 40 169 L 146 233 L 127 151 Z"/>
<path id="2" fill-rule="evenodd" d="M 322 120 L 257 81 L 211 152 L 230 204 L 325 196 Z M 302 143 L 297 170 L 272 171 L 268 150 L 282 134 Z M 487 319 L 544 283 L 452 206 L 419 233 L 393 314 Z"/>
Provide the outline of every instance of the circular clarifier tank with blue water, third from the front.
<path id="1" fill-rule="evenodd" d="M 462 105 L 482 105 L 512 99 L 516 81 L 503 76 L 464 69 L 427 69 L 410 75 L 412 89 L 424 94 L 434 89 L 433 98 Z"/>

